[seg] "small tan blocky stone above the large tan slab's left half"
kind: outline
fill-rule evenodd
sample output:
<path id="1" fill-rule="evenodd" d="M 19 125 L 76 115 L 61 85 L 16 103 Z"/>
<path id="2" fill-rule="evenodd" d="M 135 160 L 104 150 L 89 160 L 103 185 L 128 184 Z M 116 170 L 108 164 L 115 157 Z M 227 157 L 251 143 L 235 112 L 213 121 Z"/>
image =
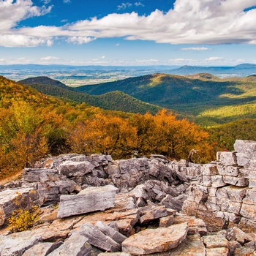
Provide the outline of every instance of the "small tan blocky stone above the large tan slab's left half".
<path id="1" fill-rule="evenodd" d="M 161 217 L 167 216 L 167 211 L 165 206 L 157 206 L 157 207 L 151 207 L 146 206 L 145 208 L 142 208 L 141 214 L 143 214 L 142 217 L 140 217 L 140 224 L 151 222 L 154 219 L 159 219 Z"/>

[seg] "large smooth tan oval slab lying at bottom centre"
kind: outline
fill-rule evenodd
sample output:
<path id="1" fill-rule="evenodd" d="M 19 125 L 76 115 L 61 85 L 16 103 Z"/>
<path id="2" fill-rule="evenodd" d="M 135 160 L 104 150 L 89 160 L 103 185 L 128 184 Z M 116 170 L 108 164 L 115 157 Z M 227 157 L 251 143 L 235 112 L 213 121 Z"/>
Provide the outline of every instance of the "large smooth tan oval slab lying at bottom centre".
<path id="1" fill-rule="evenodd" d="M 166 252 L 176 248 L 187 237 L 187 223 L 146 229 L 130 236 L 122 243 L 122 251 L 132 255 L 148 255 L 154 252 Z"/>

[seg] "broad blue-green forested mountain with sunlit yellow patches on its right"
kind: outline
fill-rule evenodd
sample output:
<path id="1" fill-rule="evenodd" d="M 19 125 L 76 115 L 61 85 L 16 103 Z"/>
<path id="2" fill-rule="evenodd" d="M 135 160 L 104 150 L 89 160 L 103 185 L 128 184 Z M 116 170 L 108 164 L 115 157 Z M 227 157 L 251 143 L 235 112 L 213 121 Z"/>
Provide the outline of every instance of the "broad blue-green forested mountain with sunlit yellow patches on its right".
<path id="1" fill-rule="evenodd" d="M 216 126 L 239 118 L 256 118 L 256 77 L 219 79 L 211 74 L 154 74 L 93 86 L 80 86 L 88 94 L 123 91 L 144 102 L 175 110 L 203 126 Z M 234 115 L 234 113 L 237 113 Z"/>

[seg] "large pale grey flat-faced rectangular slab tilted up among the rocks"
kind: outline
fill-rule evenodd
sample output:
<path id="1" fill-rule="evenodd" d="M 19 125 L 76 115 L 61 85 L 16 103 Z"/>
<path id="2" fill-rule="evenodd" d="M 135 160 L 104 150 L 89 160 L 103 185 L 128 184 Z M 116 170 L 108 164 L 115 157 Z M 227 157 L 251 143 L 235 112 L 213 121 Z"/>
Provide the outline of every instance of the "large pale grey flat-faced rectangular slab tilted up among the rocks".
<path id="1" fill-rule="evenodd" d="M 58 217 L 64 218 L 92 211 L 104 211 L 115 203 L 117 188 L 112 185 L 105 187 L 88 187 L 78 195 L 61 195 Z"/>

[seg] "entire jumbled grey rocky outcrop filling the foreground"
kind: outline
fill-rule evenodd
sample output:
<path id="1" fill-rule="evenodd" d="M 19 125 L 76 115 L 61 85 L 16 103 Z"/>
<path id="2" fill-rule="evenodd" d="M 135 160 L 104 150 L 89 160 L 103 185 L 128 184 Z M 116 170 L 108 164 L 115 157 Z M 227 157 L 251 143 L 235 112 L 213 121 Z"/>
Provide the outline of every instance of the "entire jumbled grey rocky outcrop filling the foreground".
<path id="1" fill-rule="evenodd" d="M 235 150 L 203 166 L 161 155 L 43 159 L 0 192 L 4 225 L 23 207 L 17 195 L 40 207 L 31 230 L 2 226 L 0 255 L 254 255 L 256 142 Z"/>

